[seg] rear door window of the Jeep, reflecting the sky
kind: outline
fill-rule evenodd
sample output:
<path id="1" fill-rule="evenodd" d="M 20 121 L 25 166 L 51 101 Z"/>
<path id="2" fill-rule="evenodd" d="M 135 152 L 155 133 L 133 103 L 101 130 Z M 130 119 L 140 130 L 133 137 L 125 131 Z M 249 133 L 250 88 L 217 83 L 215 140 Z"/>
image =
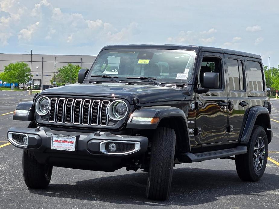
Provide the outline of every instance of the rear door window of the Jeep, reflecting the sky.
<path id="1" fill-rule="evenodd" d="M 228 59 L 228 73 L 230 90 L 243 90 L 243 63 L 241 60 Z"/>

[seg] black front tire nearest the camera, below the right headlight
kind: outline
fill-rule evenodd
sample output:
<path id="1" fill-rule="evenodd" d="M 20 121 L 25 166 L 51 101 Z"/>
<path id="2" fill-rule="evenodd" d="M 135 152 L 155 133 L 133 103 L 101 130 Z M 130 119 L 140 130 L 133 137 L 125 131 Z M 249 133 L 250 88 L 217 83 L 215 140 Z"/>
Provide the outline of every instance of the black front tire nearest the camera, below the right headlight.
<path id="1" fill-rule="evenodd" d="M 166 200 L 170 193 L 175 152 L 175 132 L 159 127 L 152 140 L 146 196 L 152 200 Z"/>

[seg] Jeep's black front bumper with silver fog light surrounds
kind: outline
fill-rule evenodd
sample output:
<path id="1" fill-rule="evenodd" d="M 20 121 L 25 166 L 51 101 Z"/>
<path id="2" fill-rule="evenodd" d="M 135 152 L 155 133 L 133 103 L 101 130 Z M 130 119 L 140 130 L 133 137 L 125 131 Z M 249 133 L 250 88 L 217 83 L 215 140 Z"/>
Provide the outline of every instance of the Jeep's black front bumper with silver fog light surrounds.
<path id="1" fill-rule="evenodd" d="M 14 134 L 14 135 L 12 135 Z M 27 145 L 23 145 L 13 139 L 15 135 L 23 135 L 28 137 Z M 70 135 L 76 136 L 75 151 L 60 151 L 51 149 L 51 135 Z M 109 132 L 95 133 L 76 133 L 65 131 L 54 131 L 46 127 L 37 128 L 16 128 L 11 127 L 8 130 L 8 140 L 17 148 L 23 148 L 40 153 L 65 153 L 71 155 L 87 155 L 87 156 L 135 156 L 147 151 L 148 139 L 144 136 L 126 136 L 115 135 Z M 128 151 L 111 153 L 106 151 L 106 143 L 125 143 L 134 145 L 133 149 Z"/>

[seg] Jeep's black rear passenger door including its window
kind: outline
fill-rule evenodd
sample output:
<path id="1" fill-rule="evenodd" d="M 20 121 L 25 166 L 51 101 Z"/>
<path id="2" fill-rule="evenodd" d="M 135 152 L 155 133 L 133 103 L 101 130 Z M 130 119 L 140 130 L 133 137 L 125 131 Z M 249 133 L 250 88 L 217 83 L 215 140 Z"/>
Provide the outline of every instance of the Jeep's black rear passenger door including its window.
<path id="1" fill-rule="evenodd" d="M 228 89 L 228 140 L 239 139 L 244 114 L 249 109 L 249 98 L 246 85 L 244 58 L 242 56 L 224 55 L 226 60 Z"/>

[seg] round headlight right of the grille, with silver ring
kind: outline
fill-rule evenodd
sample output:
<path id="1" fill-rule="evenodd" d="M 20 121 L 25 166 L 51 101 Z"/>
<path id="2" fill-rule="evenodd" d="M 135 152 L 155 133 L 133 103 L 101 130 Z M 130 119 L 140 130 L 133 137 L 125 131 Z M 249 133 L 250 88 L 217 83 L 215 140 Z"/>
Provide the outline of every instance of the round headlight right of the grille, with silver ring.
<path id="1" fill-rule="evenodd" d="M 124 101 L 116 100 L 110 103 L 108 108 L 109 117 L 113 120 L 121 120 L 126 116 L 128 107 Z"/>

